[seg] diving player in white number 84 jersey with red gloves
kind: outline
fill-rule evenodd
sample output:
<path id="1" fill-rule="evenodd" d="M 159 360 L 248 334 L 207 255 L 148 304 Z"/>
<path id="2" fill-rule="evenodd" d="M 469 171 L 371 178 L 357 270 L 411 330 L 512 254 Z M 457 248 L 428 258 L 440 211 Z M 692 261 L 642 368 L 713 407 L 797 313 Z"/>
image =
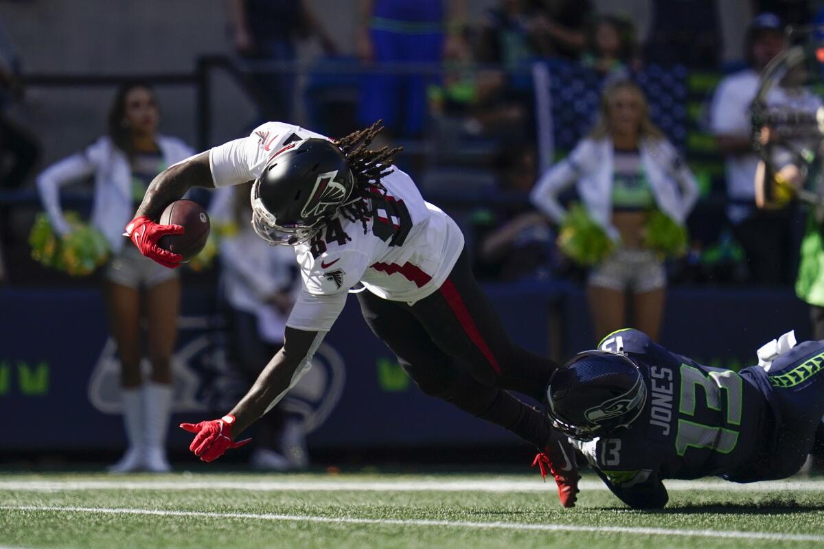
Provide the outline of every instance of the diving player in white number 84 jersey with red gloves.
<path id="1" fill-rule="evenodd" d="M 536 445 L 536 462 L 574 505 L 578 471 L 567 440 L 548 417 L 508 390 L 541 400 L 557 365 L 516 347 L 473 277 L 461 230 L 424 202 L 410 176 L 394 168 L 398 149 L 368 149 L 380 122 L 339 141 L 286 123 L 193 156 L 158 175 L 127 233 L 148 257 L 173 266 L 157 246 L 180 231 L 153 222 L 193 185 L 254 181 L 252 226 L 270 244 L 295 248 L 303 288 L 287 321 L 283 348 L 246 397 L 222 419 L 181 427 L 204 461 L 246 444 L 235 436 L 269 411 L 311 365 L 311 357 L 358 283 L 363 318 L 429 395 Z M 562 446 L 561 444 L 564 444 Z"/>

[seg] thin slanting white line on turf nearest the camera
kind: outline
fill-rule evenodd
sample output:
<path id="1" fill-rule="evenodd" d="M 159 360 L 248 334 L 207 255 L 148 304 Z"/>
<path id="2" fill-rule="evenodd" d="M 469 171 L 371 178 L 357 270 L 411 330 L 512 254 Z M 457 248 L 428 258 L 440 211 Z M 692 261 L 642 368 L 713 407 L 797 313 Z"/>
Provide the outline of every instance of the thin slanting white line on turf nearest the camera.
<path id="1" fill-rule="evenodd" d="M 621 526 L 578 526 L 574 524 L 525 524 L 525 523 L 480 523 L 450 520 L 417 519 L 355 519 L 351 517 L 319 517 L 296 514 L 269 513 L 207 513 L 203 511 L 173 511 L 163 509 L 121 509 L 107 507 L 58 507 L 37 505 L 2 505 L 2 510 L 17 511 L 62 511 L 67 513 L 91 514 L 143 514 L 152 516 L 193 517 L 206 519 L 250 519 L 273 520 L 281 522 L 330 523 L 330 524 L 376 524 L 380 526 L 426 527 L 442 526 L 447 528 L 480 528 L 504 530 L 537 530 L 544 532 L 591 532 L 617 533 L 643 536 L 678 536 L 678 537 L 716 537 L 732 539 L 770 540 L 777 542 L 824 542 L 824 536 L 792 533 L 770 532 L 715 532 L 714 530 L 682 530 L 677 528 L 630 528 Z"/>

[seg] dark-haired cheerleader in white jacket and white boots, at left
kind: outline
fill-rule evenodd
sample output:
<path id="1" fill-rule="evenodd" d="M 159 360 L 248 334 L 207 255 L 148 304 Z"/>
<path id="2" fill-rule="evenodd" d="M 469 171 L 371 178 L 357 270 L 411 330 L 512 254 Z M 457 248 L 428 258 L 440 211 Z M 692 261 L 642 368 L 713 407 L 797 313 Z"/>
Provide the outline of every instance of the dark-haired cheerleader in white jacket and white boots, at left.
<path id="1" fill-rule="evenodd" d="M 108 133 L 83 151 L 49 166 L 37 179 L 49 220 L 61 235 L 71 228 L 60 207 L 59 189 L 93 177 L 91 223 L 113 250 L 105 267 L 105 304 L 120 360 L 123 416 L 129 449 L 111 472 L 170 469 L 166 430 L 172 397 L 171 354 L 177 335 L 180 281 L 177 271 L 144 258 L 123 236 L 123 227 L 143 200 L 148 184 L 169 165 L 191 156 L 176 137 L 157 133 L 157 96 L 144 83 L 125 83 L 115 94 Z M 152 365 L 141 373 L 143 323 Z"/>

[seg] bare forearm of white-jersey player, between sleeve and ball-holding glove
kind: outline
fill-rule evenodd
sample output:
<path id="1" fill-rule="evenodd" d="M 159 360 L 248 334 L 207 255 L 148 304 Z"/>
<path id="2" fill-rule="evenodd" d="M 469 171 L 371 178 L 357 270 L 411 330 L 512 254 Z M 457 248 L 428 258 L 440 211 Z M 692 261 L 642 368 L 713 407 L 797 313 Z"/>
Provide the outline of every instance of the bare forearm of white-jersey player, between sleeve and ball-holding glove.
<path id="1" fill-rule="evenodd" d="M 192 187 L 214 187 L 208 151 L 171 165 L 157 174 L 146 189 L 146 195 L 143 196 L 143 202 L 140 202 L 135 217 L 158 219 L 166 206 L 182 198 Z"/>

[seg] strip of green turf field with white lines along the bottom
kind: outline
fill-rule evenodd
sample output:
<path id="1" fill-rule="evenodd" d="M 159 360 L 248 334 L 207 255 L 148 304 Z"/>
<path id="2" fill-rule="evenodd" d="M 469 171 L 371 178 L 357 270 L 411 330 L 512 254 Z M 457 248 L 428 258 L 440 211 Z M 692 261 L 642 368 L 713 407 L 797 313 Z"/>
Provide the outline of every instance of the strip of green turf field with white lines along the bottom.
<path id="1" fill-rule="evenodd" d="M 662 512 L 586 477 L 0 474 L 0 547 L 824 547 L 824 481 L 671 482 Z"/>

